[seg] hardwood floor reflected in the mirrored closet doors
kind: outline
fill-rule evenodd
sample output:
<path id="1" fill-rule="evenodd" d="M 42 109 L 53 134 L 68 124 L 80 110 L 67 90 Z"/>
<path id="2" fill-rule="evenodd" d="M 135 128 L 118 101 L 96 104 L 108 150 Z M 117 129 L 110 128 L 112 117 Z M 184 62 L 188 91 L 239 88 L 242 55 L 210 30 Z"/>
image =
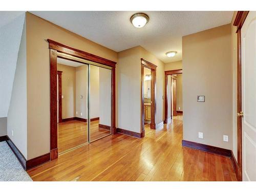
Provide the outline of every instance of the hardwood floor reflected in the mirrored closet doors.
<path id="1" fill-rule="evenodd" d="M 91 122 L 91 140 L 110 134 L 110 131 L 99 128 L 99 120 Z M 58 123 L 58 152 L 62 153 L 70 148 L 88 142 L 87 122 L 78 120 Z"/>

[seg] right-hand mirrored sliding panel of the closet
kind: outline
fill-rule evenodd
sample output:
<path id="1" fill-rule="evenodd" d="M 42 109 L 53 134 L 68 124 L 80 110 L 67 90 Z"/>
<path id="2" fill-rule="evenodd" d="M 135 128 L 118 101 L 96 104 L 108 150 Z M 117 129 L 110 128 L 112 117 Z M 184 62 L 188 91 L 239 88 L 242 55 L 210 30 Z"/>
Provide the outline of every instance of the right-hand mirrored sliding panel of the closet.
<path id="1" fill-rule="evenodd" d="M 91 141 L 111 134 L 111 70 L 90 65 Z"/>

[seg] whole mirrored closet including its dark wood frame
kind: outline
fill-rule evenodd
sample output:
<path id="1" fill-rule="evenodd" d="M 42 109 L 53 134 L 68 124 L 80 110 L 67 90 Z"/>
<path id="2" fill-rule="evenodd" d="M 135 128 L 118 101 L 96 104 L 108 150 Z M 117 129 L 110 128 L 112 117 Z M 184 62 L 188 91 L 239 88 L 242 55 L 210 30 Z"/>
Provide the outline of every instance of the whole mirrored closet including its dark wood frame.
<path id="1" fill-rule="evenodd" d="M 48 39 L 50 156 L 116 133 L 116 62 Z"/>

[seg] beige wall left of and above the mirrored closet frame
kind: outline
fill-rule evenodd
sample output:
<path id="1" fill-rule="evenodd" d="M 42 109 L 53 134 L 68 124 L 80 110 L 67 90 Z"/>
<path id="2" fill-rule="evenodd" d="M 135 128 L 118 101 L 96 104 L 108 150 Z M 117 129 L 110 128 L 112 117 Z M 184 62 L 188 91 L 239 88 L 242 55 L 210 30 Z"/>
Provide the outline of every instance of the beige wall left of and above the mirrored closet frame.
<path id="1" fill-rule="evenodd" d="M 31 13 L 26 14 L 26 22 L 28 159 L 32 159 L 50 151 L 50 59 L 46 39 L 113 61 L 117 61 L 117 53 Z"/>

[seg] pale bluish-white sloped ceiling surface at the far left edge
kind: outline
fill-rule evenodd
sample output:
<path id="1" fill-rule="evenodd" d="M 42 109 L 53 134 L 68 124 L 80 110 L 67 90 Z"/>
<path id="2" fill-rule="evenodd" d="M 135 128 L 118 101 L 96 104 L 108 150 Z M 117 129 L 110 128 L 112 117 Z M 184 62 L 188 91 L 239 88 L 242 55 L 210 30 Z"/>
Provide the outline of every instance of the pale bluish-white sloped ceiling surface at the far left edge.
<path id="1" fill-rule="evenodd" d="M 0 11 L 0 117 L 7 117 L 25 12 Z"/>

